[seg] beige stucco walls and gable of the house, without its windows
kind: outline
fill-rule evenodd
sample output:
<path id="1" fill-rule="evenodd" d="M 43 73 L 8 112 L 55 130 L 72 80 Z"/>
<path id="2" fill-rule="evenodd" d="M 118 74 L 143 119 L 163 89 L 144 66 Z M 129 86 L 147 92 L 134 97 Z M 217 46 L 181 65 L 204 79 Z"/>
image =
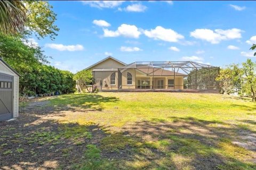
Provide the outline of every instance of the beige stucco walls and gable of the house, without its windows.
<path id="1" fill-rule="evenodd" d="M 99 90 L 118 90 L 118 89 L 183 89 L 183 76 L 175 77 L 175 86 L 168 86 L 168 80 L 174 79 L 174 73 L 168 70 L 164 70 L 165 75 L 160 75 L 159 73 L 162 71 L 156 69 L 154 72 L 159 75 L 147 75 L 145 70 L 147 69 L 120 69 L 123 68 L 126 64 L 116 60 L 113 57 L 107 57 L 102 61 L 87 67 L 86 69 L 90 69 L 93 72 L 93 77 L 95 79 L 94 86 L 97 86 Z M 119 71 L 118 71 L 119 69 Z M 157 71 L 158 70 L 158 71 Z M 127 74 L 130 73 L 132 75 L 132 83 L 127 83 Z M 111 83 L 111 75 L 115 75 L 115 81 Z M 146 86 L 142 86 L 142 83 L 148 83 Z M 114 83 L 115 82 L 115 83 Z M 161 86 L 158 86 L 161 83 Z M 85 86 L 83 84 L 78 83 L 78 91 L 83 91 Z"/>

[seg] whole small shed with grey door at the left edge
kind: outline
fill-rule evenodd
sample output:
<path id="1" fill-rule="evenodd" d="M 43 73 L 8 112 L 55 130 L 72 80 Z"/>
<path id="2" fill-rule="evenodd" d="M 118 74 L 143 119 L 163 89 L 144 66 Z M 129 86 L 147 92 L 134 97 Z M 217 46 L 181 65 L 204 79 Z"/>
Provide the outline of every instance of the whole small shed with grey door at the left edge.
<path id="1" fill-rule="evenodd" d="M 19 74 L 0 57 L 0 121 L 19 116 Z"/>

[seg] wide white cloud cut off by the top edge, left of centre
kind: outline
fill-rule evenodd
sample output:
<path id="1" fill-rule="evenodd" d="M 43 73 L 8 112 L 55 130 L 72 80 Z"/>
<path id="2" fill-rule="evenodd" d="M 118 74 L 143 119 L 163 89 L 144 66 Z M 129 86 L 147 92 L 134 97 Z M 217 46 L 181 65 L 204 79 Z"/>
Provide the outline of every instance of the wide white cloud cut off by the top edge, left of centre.
<path id="1" fill-rule="evenodd" d="M 122 5 L 125 1 L 81 1 L 84 5 L 97 8 L 114 8 Z"/>

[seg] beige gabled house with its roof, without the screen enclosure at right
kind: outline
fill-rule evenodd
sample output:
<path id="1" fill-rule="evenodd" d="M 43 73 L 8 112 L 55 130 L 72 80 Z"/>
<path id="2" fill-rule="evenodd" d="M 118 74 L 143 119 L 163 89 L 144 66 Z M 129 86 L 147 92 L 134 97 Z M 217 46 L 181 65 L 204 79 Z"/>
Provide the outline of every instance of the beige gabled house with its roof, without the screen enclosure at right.
<path id="1" fill-rule="evenodd" d="M 160 67 L 134 63 L 125 64 L 114 57 L 107 57 L 89 66 L 95 84 L 100 91 L 121 89 L 183 89 L 183 78 L 187 74 Z M 84 84 L 77 84 L 78 91 L 85 89 Z"/>

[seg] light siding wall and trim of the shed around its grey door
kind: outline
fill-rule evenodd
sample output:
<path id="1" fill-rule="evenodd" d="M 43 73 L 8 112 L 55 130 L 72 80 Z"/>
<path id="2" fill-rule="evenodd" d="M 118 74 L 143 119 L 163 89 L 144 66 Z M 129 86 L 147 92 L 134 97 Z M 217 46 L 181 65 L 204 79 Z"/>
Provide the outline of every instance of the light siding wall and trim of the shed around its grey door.
<path id="1" fill-rule="evenodd" d="M 19 116 L 19 76 L 0 60 L 0 73 L 13 76 L 13 117 Z"/>

